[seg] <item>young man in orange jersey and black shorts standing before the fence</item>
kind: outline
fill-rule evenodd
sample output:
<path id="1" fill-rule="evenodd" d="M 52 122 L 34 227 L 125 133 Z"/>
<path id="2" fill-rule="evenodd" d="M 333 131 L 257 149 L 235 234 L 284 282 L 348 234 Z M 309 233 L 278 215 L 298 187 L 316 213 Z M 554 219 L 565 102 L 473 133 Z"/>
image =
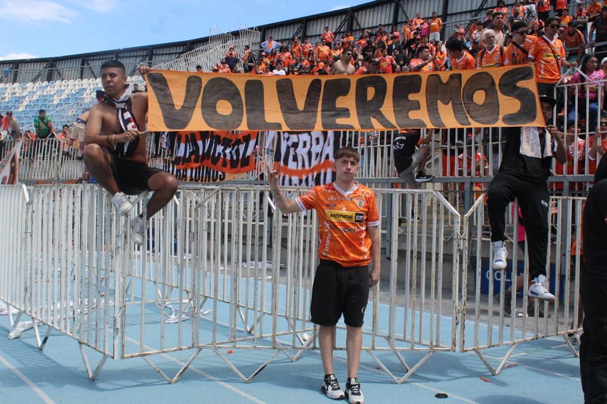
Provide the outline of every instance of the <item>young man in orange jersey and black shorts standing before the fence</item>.
<path id="1" fill-rule="evenodd" d="M 319 346 L 325 377 L 321 390 L 331 399 L 344 397 L 333 372 L 333 336 L 342 313 L 347 326 L 350 403 L 364 404 L 356 379 L 361 360 L 362 324 L 370 286 L 379 281 L 379 214 L 373 191 L 354 177 L 360 156 L 352 147 L 335 153 L 333 183 L 316 186 L 296 199 L 287 199 L 278 186 L 279 172 L 268 172 L 274 202 L 283 214 L 315 209 L 319 218 L 320 263 L 314 275 L 311 320 L 319 325 Z M 368 264 L 373 262 L 369 271 Z"/>

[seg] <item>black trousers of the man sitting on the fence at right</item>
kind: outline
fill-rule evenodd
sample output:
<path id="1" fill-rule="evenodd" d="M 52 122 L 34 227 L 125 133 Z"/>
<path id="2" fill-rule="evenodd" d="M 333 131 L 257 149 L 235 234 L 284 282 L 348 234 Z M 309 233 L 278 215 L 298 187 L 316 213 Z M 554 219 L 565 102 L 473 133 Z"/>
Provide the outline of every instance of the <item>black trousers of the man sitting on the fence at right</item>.
<path id="1" fill-rule="evenodd" d="M 487 191 L 491 241 L 506 240 L 506 208 L 514 198 L 518 198 L 523 214 L 529 247 L 529 277 L 546 275 L 550 197 L 545 182 L 524 181 L 505 173 L 495 175 Z"/>

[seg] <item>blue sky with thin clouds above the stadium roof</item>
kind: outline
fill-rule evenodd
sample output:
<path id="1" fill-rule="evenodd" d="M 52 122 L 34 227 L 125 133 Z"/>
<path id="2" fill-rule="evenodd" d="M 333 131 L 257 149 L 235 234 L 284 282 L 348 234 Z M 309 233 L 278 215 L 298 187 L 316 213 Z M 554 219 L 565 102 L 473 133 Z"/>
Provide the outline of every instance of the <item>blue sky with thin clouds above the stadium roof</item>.
<path id="1" fill-rule="evenodd" d="M 185 41 L 368 0 L 0 0 L 0 59 L 73 55 Z"/>

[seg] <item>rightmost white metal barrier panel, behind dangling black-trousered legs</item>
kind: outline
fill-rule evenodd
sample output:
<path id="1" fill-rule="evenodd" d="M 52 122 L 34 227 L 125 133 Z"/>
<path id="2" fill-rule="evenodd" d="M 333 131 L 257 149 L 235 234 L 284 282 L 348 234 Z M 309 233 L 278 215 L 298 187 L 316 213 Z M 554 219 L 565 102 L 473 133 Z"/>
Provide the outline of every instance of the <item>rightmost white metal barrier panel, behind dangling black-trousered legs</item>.
<path id="1" fill-rule="evenodd" d="M 582 325 L 580 300 L 580 255 L 584 198 L 551 199 L 550 229 L 546 260 L 548 288 L 554 304 L 527 297 L 529 258 L 527 241 L 518 204 L 507 211 L 506 244 L 509 266 L 492 269 L 489 222 L 485 197 L 476 200 L 463 216 L 462 295 L 463 318 L 459 329 L 459 351 L 474 351 L 493 374 L 499 374 L 519 343 L 538 338 L 567 338 Z M 517 282 L 518 280 L 518 282 Z M 496 368 L 489 363 L 483 349 L 510 346 Z"/>

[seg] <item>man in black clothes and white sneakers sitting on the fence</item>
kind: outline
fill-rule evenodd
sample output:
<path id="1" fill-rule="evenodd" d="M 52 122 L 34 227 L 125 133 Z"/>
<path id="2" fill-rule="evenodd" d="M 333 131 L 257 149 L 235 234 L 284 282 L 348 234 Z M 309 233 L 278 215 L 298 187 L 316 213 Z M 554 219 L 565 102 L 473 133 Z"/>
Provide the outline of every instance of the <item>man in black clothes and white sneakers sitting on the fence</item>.
<path id="1" fill-rule="evenodd" d="M 552 110 L 556 100 L 549 96 L 540 96 L 544 120 L 552 120 Z M 531 283 L 527 295 L 543 300 L 554 300 L 554 295 L 546 288 L 546 255 L 548 252 L 548 214 L 550 197 L 548 177 L 553 154 L 561 164 L 566 162 L 566 150 L 561 136 L 554 125 L 545 128 L 505 128 L 506 137 L 504 155 L 500 170 L 493 178 L 487 191 L 487 210 L 491 226 L 493 244 L 493 269 L 505 269 L 507 251 L 504 245 L 506 237 L 506 208 L 514 198 L 518 198 L 525 221 L 527 244 L 529 247 L 529 278 Z M 529 157 L 521 154 L 521 137 L 532 133 L 529 138 L 538 136 L 535 144 L 543 150 L 544 157 Z M 546 136 L 551 136 L 550 150 L 544 150 Z M 527 149 L 528 150 L 528 149 Z M 529 154 L 527 152 L 527 154 Z"/>

